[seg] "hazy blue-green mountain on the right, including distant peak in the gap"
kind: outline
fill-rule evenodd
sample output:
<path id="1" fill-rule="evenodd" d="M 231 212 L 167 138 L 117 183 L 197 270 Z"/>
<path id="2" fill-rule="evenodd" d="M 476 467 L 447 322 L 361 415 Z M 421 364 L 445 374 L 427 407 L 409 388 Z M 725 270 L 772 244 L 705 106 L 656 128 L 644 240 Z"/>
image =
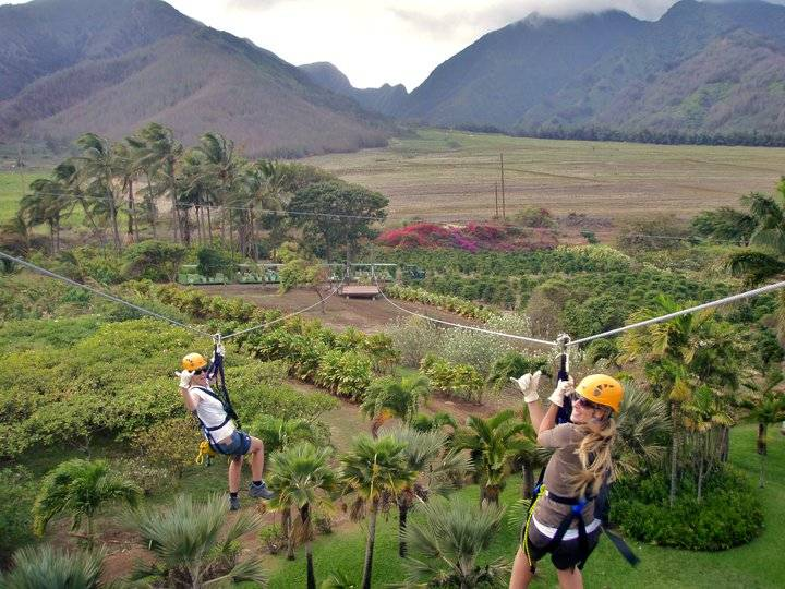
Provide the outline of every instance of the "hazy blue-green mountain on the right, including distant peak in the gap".
<path id="1" fill-rule="evenodd" d="M 531 14 L 395 100 L 363 103 L 331 82 L 340 72 L 325 81 L 325 65 L 312 79 L 364 108 L 443 127 L 785 134 L 784 65 L 785 7 L 681 0 L 656 22 L 620 11 Z"/>

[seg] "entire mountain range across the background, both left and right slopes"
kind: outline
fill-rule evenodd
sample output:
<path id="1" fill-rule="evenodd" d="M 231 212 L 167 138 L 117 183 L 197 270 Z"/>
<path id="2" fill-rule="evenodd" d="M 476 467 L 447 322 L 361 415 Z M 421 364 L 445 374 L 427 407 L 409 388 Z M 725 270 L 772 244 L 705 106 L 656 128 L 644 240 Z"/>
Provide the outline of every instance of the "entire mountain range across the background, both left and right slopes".
<path id="1" fill-rule="evenodd" d="M 160 0 L 0 7 L 0 142 L 118 139 L 153 120 L 185 143 L 219 131 L 249 154 L 276 156 L 383 145 L 397 121 L 785 137 L 785 7 L 760 0 L 681 0 L 655 22 L 534 13 L 482 36 L 411 93 L 354 88 L 327 62 L 295 68 Z"/>

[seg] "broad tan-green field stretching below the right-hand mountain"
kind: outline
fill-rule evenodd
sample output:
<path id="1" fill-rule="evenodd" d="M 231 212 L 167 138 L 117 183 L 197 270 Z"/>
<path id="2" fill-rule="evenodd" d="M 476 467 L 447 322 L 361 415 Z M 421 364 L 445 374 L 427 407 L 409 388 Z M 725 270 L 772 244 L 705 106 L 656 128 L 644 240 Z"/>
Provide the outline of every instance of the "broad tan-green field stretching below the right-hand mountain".
<path id="1" fill-rule="evenodd" d="M 606 217 L 652 209 L 692 216 L 772 192 L 785 173 L 785 149 L 552 141 L 421 130 L 389 147 L 306 161 L 383 192 L 390 217 L 435 220 L 494 214 L 504 154 L 507 212 L 538 205 Z"/>

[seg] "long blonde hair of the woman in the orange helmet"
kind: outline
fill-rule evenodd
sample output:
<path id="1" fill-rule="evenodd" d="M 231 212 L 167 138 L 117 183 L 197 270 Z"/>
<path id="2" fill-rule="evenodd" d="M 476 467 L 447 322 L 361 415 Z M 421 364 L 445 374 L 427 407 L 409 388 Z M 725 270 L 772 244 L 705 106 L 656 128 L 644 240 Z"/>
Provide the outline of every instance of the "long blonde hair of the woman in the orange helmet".
<path id="1" fill-rule="evenodd" d="M 611 450 L 616 440 L 616 422 L 613 418 L 607 418 L 596 425 L 580 425 L 578 431 L 584 433 L 576 449 L 583 470 L 570 478 L 572 496 L 595 497 L 603 483 L 614 479 Z"/>

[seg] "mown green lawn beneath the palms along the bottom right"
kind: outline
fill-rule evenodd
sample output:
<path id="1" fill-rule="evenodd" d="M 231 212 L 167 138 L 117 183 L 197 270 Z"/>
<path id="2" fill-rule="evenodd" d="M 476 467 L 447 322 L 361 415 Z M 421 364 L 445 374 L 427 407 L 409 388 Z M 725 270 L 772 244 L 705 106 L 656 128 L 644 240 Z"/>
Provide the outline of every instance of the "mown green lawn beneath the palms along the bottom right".
<path id="1" fill-rule="evenodd" d="M 650 587 L 695 587 L 711 588 L 785 587 L 785 567 L 782 554 L 785 551 L 785 437 L 777 428 L 771 428 L 769 477 L 766 488 L 760 493 L 765 514 L 765 530 L 760 538 L 748 545 L 714 553 L 687 552 L 652 545 L 631 545 L 641 557 L 641 564 L 631 568 L 616 553 L 613 545 L 603 539 L 584 569 L 585 587 L 650 588 Z M 754 426 L 742 425 L 734 429 L 732 435 L 732 462 L 747 472 L 750 480 L 758 480 L 758 456 L 754 453 Z M 503 502 L 514 503 L 519 496 L 519 478 L 510 479 L 503 494 Z M 460 490 L 451 501 L 473 506 L 478 501 L 476 486 Z M 373 586 L 400 580 L 403 568 L 397 555 L 397 513 L 379 518 L 376 550 L 374 554 Z M 505 522 L 502 532 L 491 549 L 483 555 L 483 562 L 505 557 L 511 560 L 518 543 L 518 529 Z M 365 528 L 357 526 L 319 538 L 314 543 L 314 561 L 317 580 L 322 581 L 333 570 L 343 570 L 355 581 L 361 580 L 365 546 Z M 302 550 L 298 560 L 288 562 L 283 557 L 269 557 L 270 589 L 289 589 L 305 586 L 305 558 Z M 556 574 L 550 562 L 540 566 L 540 578 L 532 587 L 557 587 Z"/>

